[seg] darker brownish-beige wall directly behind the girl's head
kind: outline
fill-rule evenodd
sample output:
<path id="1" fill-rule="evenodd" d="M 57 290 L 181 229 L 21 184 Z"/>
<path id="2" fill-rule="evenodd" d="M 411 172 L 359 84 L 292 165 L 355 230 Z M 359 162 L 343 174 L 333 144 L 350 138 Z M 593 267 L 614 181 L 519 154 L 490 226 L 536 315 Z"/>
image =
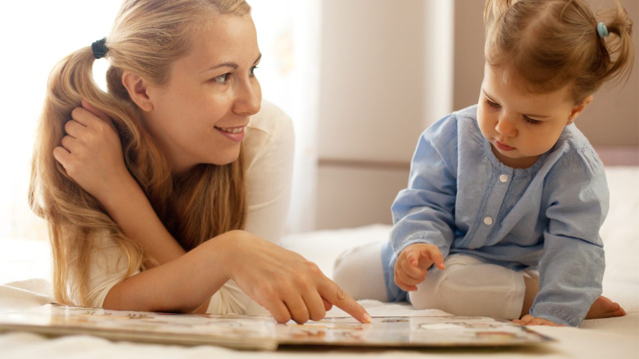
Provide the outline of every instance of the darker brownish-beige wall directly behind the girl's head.
<path id="1" fill-rule="evenodd" d="M 612 1 L 589 0 L 593 9 Z M 633 42 L 639 49 L 639 1 L 620 0 L 633 20 Z M 455 2 L 454 98 L 456 109 L 477 102 L 484 71 L 483 1 Z M 577 126 L 595 146 L 639 145 L 639 56 L 626 84 L 604 86 L 583 112 Z"/>

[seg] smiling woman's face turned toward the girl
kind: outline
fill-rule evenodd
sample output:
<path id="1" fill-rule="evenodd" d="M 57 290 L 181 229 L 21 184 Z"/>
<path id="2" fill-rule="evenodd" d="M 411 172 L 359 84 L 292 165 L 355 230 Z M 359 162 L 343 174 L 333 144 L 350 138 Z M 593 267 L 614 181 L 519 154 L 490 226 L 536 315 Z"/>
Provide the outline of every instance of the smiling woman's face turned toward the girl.
<path id="1" fill-rule="evenodd" d="M 249 117 L 261 104 L 253 71 L 261 54 L 250 16 L 216 15 L 196 31 L 169 84 L 148 86 L 144 119 L 174 174 L 197 164 L 229 164 L 240 154 Z"/>

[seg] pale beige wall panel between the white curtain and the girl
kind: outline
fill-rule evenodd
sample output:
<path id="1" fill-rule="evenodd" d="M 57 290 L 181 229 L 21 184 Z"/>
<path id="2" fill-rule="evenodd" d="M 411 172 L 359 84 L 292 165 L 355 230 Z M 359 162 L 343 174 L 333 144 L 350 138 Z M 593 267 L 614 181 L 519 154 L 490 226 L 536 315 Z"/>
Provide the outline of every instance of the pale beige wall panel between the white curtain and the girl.
<path id="1" fill-rule="evenodd" d="M 321 24 L 316 227 L 390 223 L 419 134 L 452 110 L 452 3 L 323 0 Z"/>

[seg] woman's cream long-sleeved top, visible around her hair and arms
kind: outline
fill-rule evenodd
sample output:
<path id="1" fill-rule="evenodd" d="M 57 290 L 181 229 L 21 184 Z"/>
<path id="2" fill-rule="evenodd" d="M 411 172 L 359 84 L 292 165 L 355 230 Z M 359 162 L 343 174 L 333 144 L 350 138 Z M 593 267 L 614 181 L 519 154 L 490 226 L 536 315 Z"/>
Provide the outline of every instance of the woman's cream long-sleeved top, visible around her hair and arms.
<path id="1" fill-rule="evenodd" d="M 291 119 L 272 103 L 250 119 L 244 140 L 249 213 L 245 230 L 279 244 L 288 212 L 293 171 L 293 125 Z M 89 306 L 102 307 L 111 288 L 127 271 L 127 259 L 108 236 L 96 238 L 89 271 Z M 136 271 L 133 275 L 139 273 Z M 228 282 L 213 295 L 207 312 L 244 313 L 254 304 Z"/>

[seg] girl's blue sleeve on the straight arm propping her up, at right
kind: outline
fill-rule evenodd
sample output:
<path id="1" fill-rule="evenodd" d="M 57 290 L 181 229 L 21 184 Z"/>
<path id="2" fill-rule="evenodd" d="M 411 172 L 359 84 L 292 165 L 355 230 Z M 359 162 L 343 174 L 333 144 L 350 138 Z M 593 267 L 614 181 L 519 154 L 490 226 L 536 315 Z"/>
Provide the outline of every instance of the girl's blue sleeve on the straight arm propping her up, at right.
<path id="1" fill-rule="evenodd" d="M 605 267 L 599 229 L 608 213 L 608 185 L 594 150 L 564 155 L 546 178 L 543 200 L 548 227 L 530 315 L 579 326 L 601 294 Z"/>

